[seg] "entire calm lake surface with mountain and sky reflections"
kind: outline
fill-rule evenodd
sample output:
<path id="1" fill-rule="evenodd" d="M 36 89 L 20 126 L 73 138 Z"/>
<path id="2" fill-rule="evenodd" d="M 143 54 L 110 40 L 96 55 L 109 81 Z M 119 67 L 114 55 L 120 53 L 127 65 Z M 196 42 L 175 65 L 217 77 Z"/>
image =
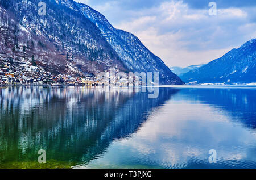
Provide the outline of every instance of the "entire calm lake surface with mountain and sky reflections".
<path id="1" fill-rule="evenodd" d="M 0 168 L 256 168 L 256 87 L 106 88 L 1 88 Z"/>

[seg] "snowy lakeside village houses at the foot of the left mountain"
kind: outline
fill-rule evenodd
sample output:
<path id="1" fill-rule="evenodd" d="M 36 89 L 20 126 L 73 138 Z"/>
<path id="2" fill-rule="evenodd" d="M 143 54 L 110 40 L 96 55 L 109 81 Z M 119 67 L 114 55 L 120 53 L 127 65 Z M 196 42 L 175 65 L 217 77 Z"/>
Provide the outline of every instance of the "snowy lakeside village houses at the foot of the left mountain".
<path id="1" fill-rule="evenodd" d="M 108 73 L 107 73 L 108 74 Z M 53 75 L 46 72 L 42 67 L 33 66 L 31 62 L 24 62 L 21 65 L 11 64 L 2 61 L 0 64 L 0 85 L 140 85 L 137 78 L 123 79 L 110 77 L 97 77 L 86 74 L 83 77 L 73 77 L 68 74 Z"/>

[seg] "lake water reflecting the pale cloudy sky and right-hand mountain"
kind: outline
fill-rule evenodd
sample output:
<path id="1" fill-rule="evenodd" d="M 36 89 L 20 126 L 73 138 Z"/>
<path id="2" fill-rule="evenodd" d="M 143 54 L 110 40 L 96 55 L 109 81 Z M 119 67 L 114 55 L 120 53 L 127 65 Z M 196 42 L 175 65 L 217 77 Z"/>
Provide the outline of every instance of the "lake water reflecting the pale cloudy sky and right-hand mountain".
<path id="1" fill-rule="evenodd" d="M 133 137 L 77 167 L 256 168 L 255 98 L 254 88 L 180 89 Z"/>

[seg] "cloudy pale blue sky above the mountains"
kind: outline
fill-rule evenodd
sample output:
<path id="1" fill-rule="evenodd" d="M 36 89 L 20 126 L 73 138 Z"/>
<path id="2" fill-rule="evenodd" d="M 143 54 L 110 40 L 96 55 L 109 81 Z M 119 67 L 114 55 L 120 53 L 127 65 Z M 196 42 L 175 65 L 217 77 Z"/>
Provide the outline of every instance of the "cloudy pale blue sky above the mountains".
<path id="1" fill-rule="evenodd" d="M 167 66 L 202 64 L 256 38 L 255 0 L 75 0 L 137 36 Z M 210 13 L 209 13 L 210 11 Z"/>

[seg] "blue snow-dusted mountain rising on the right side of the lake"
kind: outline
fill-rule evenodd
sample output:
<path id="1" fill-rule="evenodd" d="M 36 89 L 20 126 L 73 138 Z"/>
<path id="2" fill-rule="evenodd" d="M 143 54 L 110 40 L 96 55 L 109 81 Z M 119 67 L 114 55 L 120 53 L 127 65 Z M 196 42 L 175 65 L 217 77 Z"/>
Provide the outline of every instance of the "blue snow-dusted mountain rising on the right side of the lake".
<path id="1" fill-rule="evenodd" d="M 186 83 L 255 83 L 256 39 L 199 69 L 181 74 L 180 78 Z"/>

